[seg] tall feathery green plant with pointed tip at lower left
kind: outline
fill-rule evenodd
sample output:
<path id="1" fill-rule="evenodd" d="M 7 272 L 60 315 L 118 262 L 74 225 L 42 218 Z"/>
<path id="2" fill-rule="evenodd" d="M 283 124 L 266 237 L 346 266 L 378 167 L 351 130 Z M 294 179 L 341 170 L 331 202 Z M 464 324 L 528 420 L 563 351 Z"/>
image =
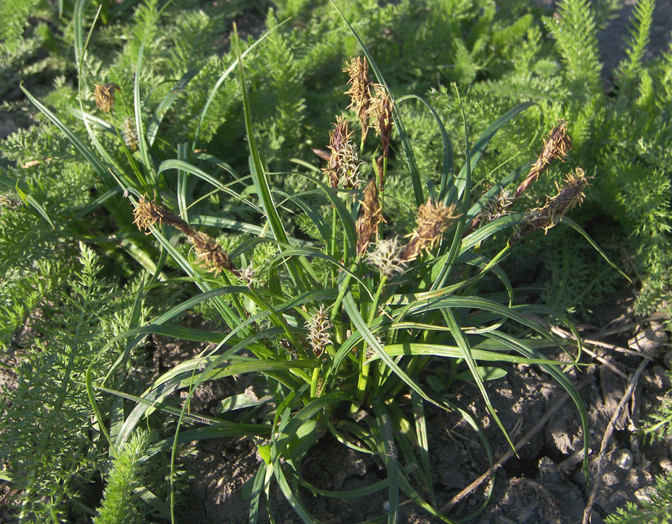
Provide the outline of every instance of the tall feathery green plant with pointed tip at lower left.
<path id="1" fill-rule="evenodd" d="M 91 406 L 83 377 L 96 360 L 94 375 L 112 358 L 99 353 L 103 341 L 127 329 L 130 311 L 123 297 L 98 277 L 95 254 L 81 244 L 79 267 L 71 268 L 68 292 L 52 295 L 33 312 L 31 329 L 40 338 L 16 370 L 18 386 L 3 392 L 0 457 L 21 490 L 18 517 L 24 522 L 64 518 L 86 508 L 79 501 L 103 459 L 91 437 Z M 136 287 L 137 290 L 137 287 Z"/>

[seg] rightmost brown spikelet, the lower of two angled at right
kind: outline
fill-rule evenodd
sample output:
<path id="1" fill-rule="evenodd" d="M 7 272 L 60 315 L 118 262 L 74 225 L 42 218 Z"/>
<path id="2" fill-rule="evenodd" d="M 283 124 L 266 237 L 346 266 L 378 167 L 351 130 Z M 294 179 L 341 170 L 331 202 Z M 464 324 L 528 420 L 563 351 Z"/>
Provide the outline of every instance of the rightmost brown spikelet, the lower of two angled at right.
<path id="1" fill-rule="evenodd" d="M 509 244 L 527 237 L 537 229 L 543 229 L 544 233 L 547 233 L 551 227 L 562 220 L 567 211 L 584 202 L 586 197 L 584 190 L 589 187 L 588 177 L 584 175 L 584 170 L 577 167 L 576 174 L 569 174 L 565 178 L 564 186 L 558 189 L 557 195 L 548 197 L 543 207 L 526 212 L 519 228 L 509 240 Z"/>

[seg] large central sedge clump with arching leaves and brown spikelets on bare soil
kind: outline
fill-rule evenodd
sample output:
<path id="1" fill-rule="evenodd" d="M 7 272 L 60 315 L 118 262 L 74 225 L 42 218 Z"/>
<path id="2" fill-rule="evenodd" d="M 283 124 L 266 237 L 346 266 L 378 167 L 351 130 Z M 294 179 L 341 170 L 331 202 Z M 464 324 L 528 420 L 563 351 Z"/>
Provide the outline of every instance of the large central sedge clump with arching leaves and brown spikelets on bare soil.
<path id="1" fill-rule="evenodd" d="M 103 380 L 94 381 L 89 375 L 94 407 L 96 391 L 134 404 L 114 432 L 104 431 L 112 450 L 122 447 L 146 418 L 163 411 L 177 418 L 177 426 L 173 437 L 153 450 L 172 450 L 173 462 L 180 445 L 194 440 L 246 437 L 257 444 L 263 460 L 248 486 L 250 522 L 260 518 L 264 503 L 271 511 L 272 486 L 278 486 L 306 523 L 316 520 L 299 496 L 301 486 L 315 495 L 336 498 L 386 490 L 390 523 L 398 522 L 403 494 L 432 516 L 452 522 L 440 513 L 432 488 L 424 418 L 427 405 L 460 413 L 482 440 L 491 462 L 492 452 L 469 414 L 453 406 L 446 394 L 436 397 L 427 393 L 429 365 L 448 370 L 463 365 L 511 446 L 489 401 L 484 377 L 498 364 L 539 365 L 572 396 L 587 435 L 586 412 L 577 389 L 564 373 L 566 363 L 542 353 L 543 348 L 560 342 L 536 317 L 553 313 L 538 305 L 514 304 L 514 291 L 497 265 L 516 241 L 538 229 L 548 232 L 564 222 L 582 232 L 565 216 L 581 203 L 589 186 L 580 169 L 567 176 L 557 195 L 544 205 L 511 211 L 519 195 L 548 165 L 567 154 L 571 147 L 567 123 L 560 122 L 549 133 L 535 163 L 506 174 L 484 195 L 473 198 L 471 173 L 487 144 L 533 103 L 510 110 L 473 145 L 465 125 L 468 155 L 459 171 L 454 168 L 448 133 L 427 104 L 444 139 L 444 165 L 437 181 L 422 177 L 398 111 L 398 104 L 417 97 L 395 101 L 362 45 L 365 57 L 354 59 L 347 68 L 352 118 L 337 118 L 328 149 L 315 151 L 326 163 L 323 169 L 297 161 L 306 171 L 293 174 L 306 178 L 314 190 L 289 194 L 274 183 L 283 173 L 272 173 L 260 154 L 237 39 L 233 47 L 238 54 L 250 174 L 232 183 L 243 186 L 238 195 L 257 212 L 258 222 L 241 229 L 241 222 L 195 213 L 187 222 L 182 212 L 173 212 L 155 194 L 137 187 L 124 188 L 137 195 L 132 197 L 134 223 L 153 235 L 189 275 L 188 280 L 197 283 L 199 293 L 150 324 L 117 338 L 127 338 L 127 351 L 151 333 L 209 341 L 216 346 L 175 366 L 137 396 L 108 385 L 117 373 L 116 365 Z M 370 77 L 369 64 L 376 81 Z M 359 121 L 359 139 L 353 138 L 351 121 Z M 395 156 L 396 144 L 400 144 L 402 155 Z M 370 169 L 363 159 L 365 151 L 371 152 Z M 386 195 L 388 176 L 398 176 L 390 166 L 400 161 L 412 181 L 415 215 L 415 226 L 405 230 L 395 229 L 392 217 L 386 216 L 386 204 L 393 199 Z M 164 161 L 158 171 L 175 168 L 212 181 L 197 166 L 180 159 Z M 220 190 L 226 187 L 212 182 Z M 311 232 L 312 239 L 288 233 L 286 210 L 302 217 L 297 220 L 302 229 Z M 202 231 L 204 225 L 231 227 L 246 237 L 226 251 Z M 170 240 L 175 234 L 187 242 L 190 253 L 175 248 L 175 241 Z M 503 237 L 504 244 L 494 249 Z M 260 252 L 265 254 L 261 262 Z M 499 282 L 499 292 L 483 291 L 481 285 L 490 277 Z M 183 312 L 204 303 L 213 304 L 226 326 L 223 332 L 170 325 Z M 567 324 L 562 317 L 556 318 Z M 527 335 L 519 335 L 521 332 Z M 246 410 L 239 409 L 239 396 L 224 399 L 222 412 L 216 417 L 189 412 L 196 387 L 245 372 L 265 377 L 267 383 L 268 395 L 246 399 L 243 406 L 254 410 L 263 404 L 266 415 L 261 421 L 250 423 Z M 450 381 L 444 386 L 449 385 Z M 170 394 L 180 390 L 187 392 L 183 406 L 167 406 Z M 96 414 L 100 427 L 105 428 L 107 416 L 97 408 Z M 387 478 L 352 491 L 324 491 L 312 485 L 302 475 L 302 461 L 326 434 L 349 448 L 378 457 Z M 584 442 L 587 458 L 587 438 Z M 170 478 L 173 482 L 172 475 Z M 174 513 L 171 516 L 175 520 Z"/>

